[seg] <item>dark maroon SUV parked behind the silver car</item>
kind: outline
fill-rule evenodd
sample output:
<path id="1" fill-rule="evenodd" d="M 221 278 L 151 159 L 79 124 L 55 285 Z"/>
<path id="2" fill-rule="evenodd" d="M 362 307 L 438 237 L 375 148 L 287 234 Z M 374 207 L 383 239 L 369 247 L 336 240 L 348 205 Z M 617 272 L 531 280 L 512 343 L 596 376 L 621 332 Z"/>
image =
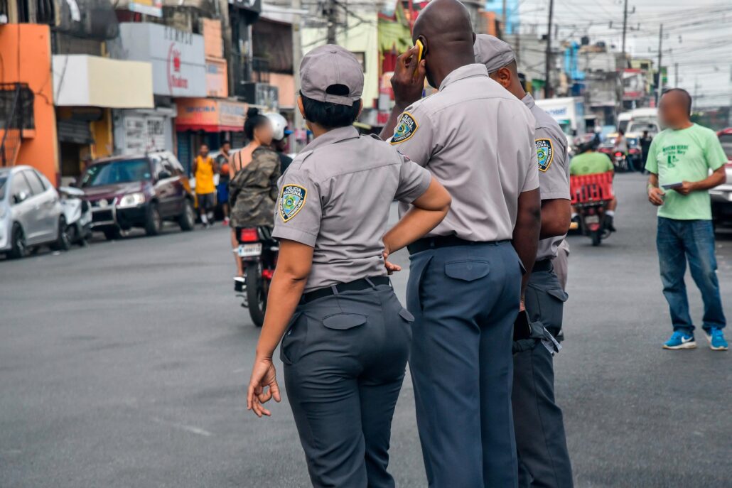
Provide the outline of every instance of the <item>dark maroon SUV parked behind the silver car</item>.
<path id="1" fill-rule="evenodd" d="M 122 230 L 160 233 L 165 220 L 193 230 L 193 192 L 178 159 L 169 151 L 108 157 L 93 162 L 78 179 L 91 205 L 91 228 L 107 239 Z"/>

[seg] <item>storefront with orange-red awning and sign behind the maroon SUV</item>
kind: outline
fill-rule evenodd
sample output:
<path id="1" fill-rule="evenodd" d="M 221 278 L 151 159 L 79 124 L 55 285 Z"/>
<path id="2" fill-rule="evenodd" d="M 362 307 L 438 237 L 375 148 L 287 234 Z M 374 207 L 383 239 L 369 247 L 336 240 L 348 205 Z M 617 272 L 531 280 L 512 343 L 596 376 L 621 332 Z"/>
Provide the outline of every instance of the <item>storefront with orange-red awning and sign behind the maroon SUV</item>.
<path id="1" fill-rule="evenodd" d="M 215 150 L 224 140 L 241 147 L 247 104 L 235 100 L 187 98 L 177 100 L 176 135 L 178 159 L 190 170 L 198 147 L 205 143 Z"/>

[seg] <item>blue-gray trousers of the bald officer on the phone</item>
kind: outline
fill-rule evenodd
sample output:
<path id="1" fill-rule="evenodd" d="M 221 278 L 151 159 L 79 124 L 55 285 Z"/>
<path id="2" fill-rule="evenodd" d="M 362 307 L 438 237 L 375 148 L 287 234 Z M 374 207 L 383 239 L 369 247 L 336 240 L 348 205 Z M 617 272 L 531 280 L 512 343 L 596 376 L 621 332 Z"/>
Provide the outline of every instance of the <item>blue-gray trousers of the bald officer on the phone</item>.
<path id="1" fill-rule="evenodd" d="M 517 484 L 511 343 L 520 282 L 508 242 L 411 256 L 409 366 L 430 487 Z"/>

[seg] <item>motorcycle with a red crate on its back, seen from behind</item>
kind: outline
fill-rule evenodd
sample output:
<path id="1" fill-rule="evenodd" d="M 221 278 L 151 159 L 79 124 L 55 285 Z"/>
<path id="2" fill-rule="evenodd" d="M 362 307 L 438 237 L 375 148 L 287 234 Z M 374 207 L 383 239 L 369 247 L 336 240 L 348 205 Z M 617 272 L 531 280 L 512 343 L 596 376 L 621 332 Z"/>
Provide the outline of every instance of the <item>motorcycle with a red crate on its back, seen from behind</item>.
<path id="1" fill-rule="evenodd" d="M 599 246 L 602 239 L 610 236 L 605 225 L 605 211 L 613 199 L 613 173 L 570 176 L 569 187 L 580 232 L 592 240 L 593 246 Z"/>

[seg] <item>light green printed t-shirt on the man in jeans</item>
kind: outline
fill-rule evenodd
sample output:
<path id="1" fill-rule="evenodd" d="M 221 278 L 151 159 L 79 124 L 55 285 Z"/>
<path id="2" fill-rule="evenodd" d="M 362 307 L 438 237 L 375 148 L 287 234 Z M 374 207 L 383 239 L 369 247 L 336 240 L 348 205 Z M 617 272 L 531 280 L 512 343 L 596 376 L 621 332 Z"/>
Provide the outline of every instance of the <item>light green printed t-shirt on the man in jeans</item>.
<path id="1" fill-rule="evenodd" d="M 658 175 L 658 185 L 701 181 L 709 170 L 717 170 L 727 162 L 727 156 L 717 134 L 712 129 L 694 124 L 681 130 L 665 129 L 657 135 L 648 151 L 646 170 Z M 677 220 L 711 220 L 712 203 L 709 191 L 681 195 L 664 189 L 663 205 L 658 216 Z"/>

